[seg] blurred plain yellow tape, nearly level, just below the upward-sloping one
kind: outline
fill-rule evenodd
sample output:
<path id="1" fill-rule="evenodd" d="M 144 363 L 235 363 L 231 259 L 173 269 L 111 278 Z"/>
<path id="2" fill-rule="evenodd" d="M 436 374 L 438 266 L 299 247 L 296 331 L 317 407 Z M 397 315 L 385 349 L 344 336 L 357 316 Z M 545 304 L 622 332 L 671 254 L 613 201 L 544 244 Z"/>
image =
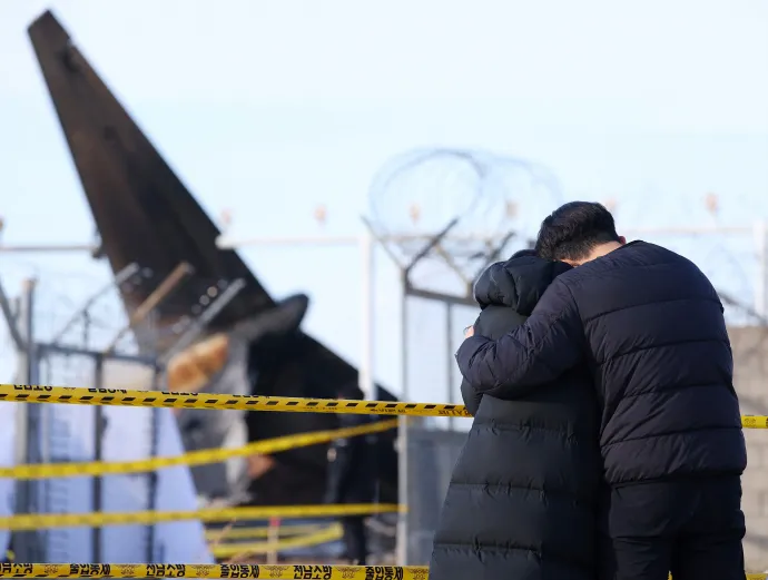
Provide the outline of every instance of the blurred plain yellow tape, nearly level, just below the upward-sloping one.
<path id="1" fill-rule="evenodd" d="M 404 512 L 393 503 L 348 503 L 339 505 L 269 505 L 253 508 L 207 508 L 196 511 L 141 511 L 100 513 L 23 513 L 0 518 L 0 530 L 37 530 L 41 528 L 78 528 L 104 525 L 149 525 L 158 522 L 200 520 L 266 520 L 269 518 L 337 518 L 368 513 Z"/>

